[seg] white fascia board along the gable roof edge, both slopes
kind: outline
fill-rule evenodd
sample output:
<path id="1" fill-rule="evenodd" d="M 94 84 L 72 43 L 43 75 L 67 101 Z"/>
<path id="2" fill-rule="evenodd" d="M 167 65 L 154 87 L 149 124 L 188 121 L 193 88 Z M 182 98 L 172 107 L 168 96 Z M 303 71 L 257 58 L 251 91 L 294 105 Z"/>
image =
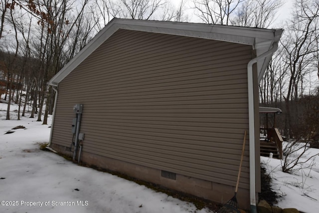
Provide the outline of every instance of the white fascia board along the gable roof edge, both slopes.
<path id="1" fill-rule="evenodd" d="M 253 47 L 256 47 L 256 40 L 258 43 L 267 41 L 272 42 L 274 40 L 274 35 L 276 34 L 276 30 L 274 29 L 114 18 L 96 36 L 94 36 L 94 38 L 48 82 L 48 84 L 57 86 L 59 82 L 70 74 L 73 69 L 75 69 L 118 29 L 214 39 L 252 45 Z M 266 47 L 267 50 L 270 48 L 271 45 Z"/>

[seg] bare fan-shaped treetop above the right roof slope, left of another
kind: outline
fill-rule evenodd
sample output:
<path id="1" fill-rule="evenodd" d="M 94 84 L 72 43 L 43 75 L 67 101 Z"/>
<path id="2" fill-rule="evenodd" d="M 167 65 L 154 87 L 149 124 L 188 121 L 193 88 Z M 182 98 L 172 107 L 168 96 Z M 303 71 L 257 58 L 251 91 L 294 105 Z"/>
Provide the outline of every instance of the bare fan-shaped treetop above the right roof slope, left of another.
<path id="1" fill-rule="evenodd" d="M 231 14 L 244 0 L 193 0 L 196 14 L 204 23 L 230 24 Z"/>

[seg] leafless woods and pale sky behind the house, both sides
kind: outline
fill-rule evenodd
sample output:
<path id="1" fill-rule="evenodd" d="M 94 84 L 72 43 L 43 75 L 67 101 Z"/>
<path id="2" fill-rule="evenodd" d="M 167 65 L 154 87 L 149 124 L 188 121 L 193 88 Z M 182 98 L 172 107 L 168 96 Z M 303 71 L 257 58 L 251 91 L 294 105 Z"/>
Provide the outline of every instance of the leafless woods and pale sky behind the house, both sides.
<path id="1" fill-rule="evenodd" d="M 47 85 L 113 17 L 269 28 L 283 0 L 1 0 L 0 93 L 27 104 L 47 124 Z M 260 105 L 279 107 L 277 126 L 293 138 L 319 131 L 319 0 L 295 0 L 291 18 L 260 83 Z M 2 96 L 2 97 L 3 97 Z M 23 97 L 23 98 L 22 98 Z"/>

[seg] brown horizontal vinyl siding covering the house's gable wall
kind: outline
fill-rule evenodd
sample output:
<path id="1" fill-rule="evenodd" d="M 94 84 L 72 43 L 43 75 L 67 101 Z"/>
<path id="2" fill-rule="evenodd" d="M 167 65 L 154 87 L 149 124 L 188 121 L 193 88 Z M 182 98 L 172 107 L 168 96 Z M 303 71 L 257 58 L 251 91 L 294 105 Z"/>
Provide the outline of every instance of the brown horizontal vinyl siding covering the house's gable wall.
<path id="1" fill-rule="evenodd" d="M 235 186 L 248 130 L 251 46 L 118 30 L 59 84 L 52 143 Z M 248 138 L 248 137 L 247 137 Z M 241 187 L 249 189 L 248 140 Z"/>

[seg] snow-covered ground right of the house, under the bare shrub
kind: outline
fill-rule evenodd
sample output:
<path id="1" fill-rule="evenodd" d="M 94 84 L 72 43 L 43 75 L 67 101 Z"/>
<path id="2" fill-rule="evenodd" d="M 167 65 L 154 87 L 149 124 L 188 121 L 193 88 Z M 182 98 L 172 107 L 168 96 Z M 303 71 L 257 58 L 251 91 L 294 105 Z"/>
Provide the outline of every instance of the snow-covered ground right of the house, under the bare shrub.
<path id="1" fill-rule="evenodd" d="M 286 144 L 284 142 L 283 146 Z M 296 208 L 305 213 L 319 212 L 319 149 L 310 148 L 301 162 L 316 154 L 312 160 L 296 166 L 297 171 L 293 174 L 282 172 L 280 160 L 261 157 L 262 164 L 272 178 L 272 189 L 281 196 L 278 199 L 279 207 Z"/>

